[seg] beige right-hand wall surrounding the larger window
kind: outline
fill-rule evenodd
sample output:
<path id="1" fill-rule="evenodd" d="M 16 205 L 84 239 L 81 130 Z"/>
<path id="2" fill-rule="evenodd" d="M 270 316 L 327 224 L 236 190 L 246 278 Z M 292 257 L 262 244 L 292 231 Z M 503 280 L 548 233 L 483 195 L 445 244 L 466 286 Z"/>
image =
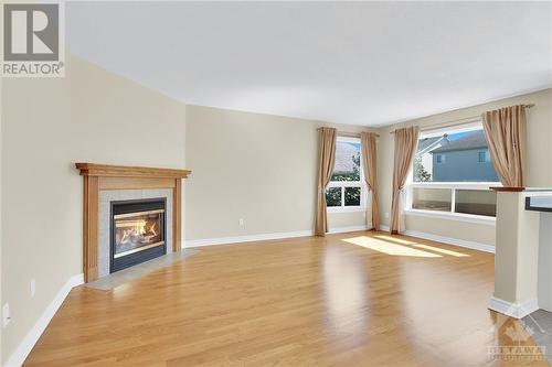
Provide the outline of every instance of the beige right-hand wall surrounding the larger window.
<path id="1" fill-rule="evenodd" d="M 517 104 L 531 104 L 528 109 L 528 186 L 552 186 L 550 170 L 550 137 L 552 137 L 552 89 L 507 98 L 475 107 L 434 115 L 380 129 L 379 185 L 382 222 L 389 226 L 391 187 L 393 180 L 393 136 L 389 132 L 404 126 L 420 127 L 468 119 L 481 112 Z M 485 245 L 495 245 L 495 227 L 484 224 L 435 219 L 420 216 L 406 217 L 406 229 L 458 238 Z"/>

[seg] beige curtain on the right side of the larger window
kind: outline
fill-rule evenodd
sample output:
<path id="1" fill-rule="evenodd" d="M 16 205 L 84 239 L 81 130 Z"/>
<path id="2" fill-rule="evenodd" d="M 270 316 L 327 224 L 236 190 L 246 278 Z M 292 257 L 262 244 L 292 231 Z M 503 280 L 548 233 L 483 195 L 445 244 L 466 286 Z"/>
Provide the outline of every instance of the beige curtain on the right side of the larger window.
<path id="1" fill-rule="evenodd" d="M 523 187 L 526 174 L 526 107 L 512 106 L 482 114 L 492 164 L 502 185 Z"/>

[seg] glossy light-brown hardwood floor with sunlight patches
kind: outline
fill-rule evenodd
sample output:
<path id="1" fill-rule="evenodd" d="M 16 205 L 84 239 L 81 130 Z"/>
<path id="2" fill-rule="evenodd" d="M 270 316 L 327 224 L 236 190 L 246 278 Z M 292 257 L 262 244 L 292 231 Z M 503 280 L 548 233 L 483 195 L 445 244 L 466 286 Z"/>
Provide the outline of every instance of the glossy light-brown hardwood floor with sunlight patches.
<path id="1" fill-rule="evenodd" d="M 213 246 L 75 288 L 25 366 L 548 366 L 489 357 L 534 345 L 492 283 L 492 255 L 385 233 Z"/>

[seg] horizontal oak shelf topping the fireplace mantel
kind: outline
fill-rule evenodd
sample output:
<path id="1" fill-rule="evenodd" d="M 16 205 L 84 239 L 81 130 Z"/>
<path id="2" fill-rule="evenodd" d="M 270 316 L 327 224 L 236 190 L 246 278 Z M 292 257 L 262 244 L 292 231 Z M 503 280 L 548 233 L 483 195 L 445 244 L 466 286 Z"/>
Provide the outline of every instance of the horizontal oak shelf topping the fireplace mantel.
<path id="1" fill-rule="evenodd" d="M 83 176 L 98 177 L 159 177 L 185 179 L 191 173 L 188 170 L 157 169 L 147 166 L 109 165 L 95 163 L 75 163 Z"/>

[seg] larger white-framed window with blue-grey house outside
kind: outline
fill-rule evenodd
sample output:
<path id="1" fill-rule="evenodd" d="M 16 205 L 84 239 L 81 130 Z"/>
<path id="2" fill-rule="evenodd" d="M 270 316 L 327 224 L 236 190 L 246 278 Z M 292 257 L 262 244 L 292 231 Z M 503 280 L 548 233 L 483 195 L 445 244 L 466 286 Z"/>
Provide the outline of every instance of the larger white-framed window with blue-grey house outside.
<path id="1" fill-rule="evenodd" d="M 420 134 L 406 209 L 495 217 L 500 186 L 481 122 Z"/>

